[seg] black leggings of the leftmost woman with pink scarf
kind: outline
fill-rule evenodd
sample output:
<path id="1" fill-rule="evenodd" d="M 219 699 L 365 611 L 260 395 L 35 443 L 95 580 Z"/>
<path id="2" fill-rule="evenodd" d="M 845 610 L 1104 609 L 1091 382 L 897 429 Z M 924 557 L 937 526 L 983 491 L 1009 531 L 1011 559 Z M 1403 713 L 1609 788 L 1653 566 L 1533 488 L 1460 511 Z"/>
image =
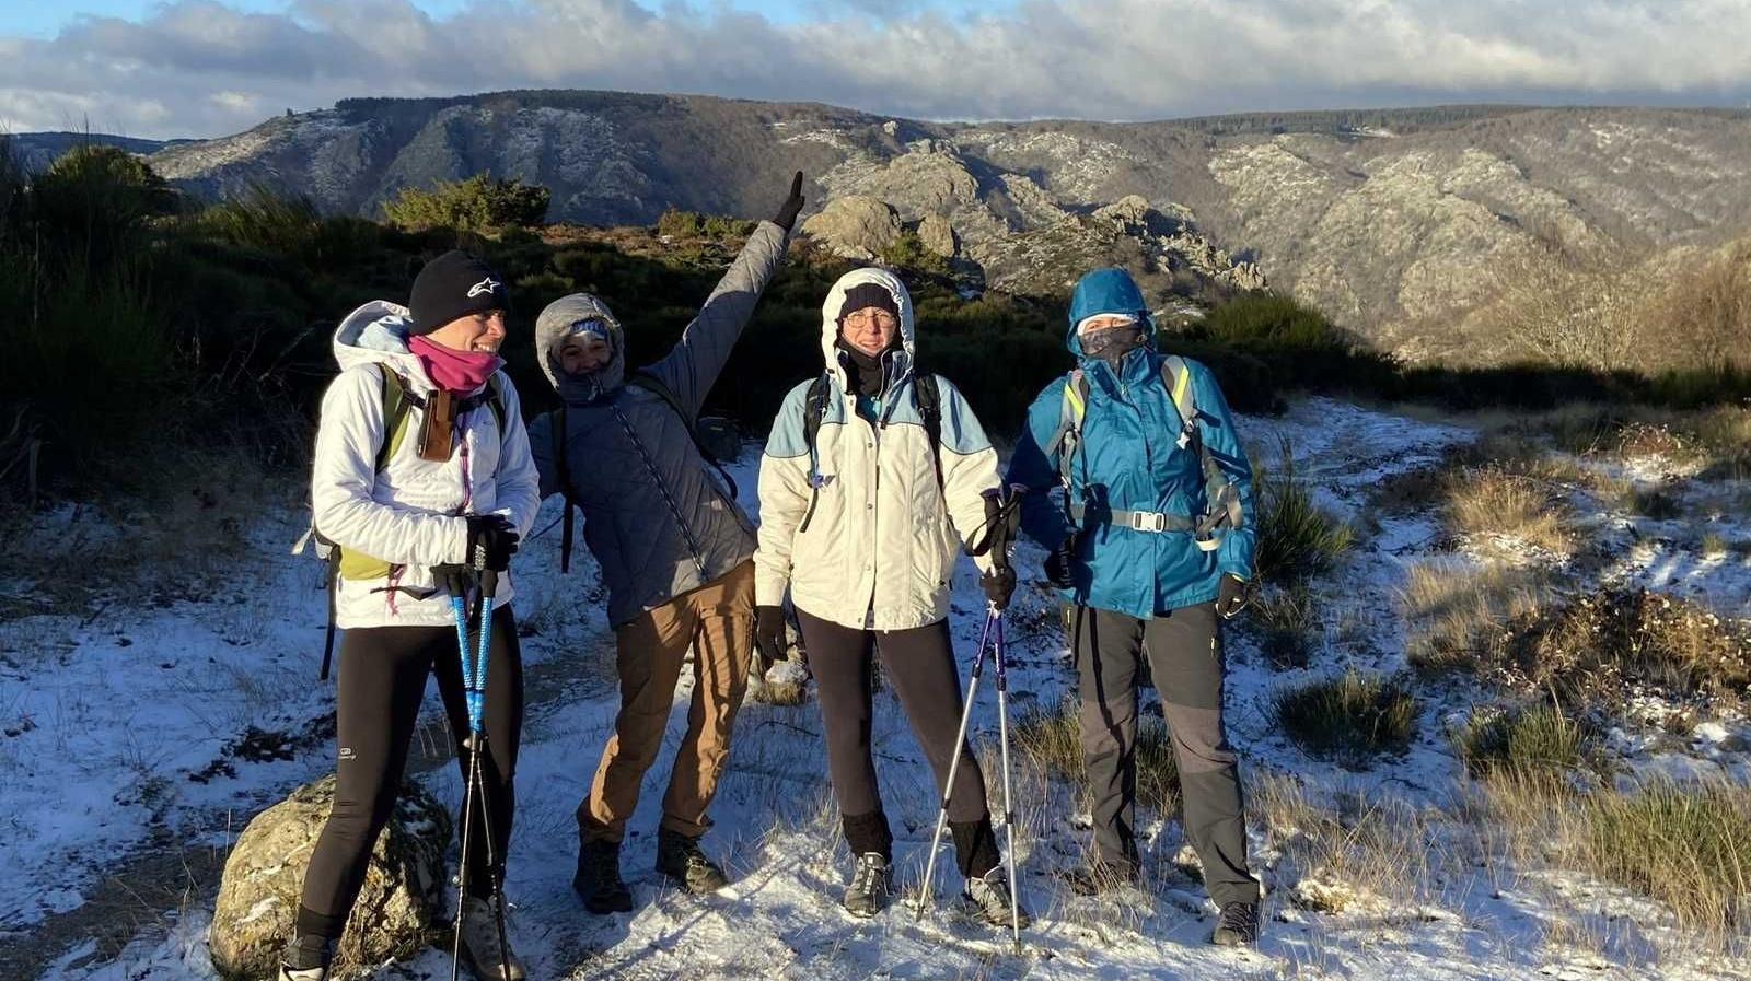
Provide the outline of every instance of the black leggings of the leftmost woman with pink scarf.
<path id="1" fill-rule="evenodd" d="M 478 626 L 469 631 L 478 642 Z M 468 705 L 462 694 L 462 663 L 454 626 L 378 626 L 354 628 L 341 638 L 340 682 L 334 692 L 336 745 L 334 810 L 305 873 L 303 902 L 298 911 L 299 936 L 340 937 L 347 925 L 371 848 L 396 808 L 396 792 L 408 764 L 408 743 L 425 698 L 425 677 L 438 675 L 450 733 L 459 747 L 457 762 L 468 780 Z M 469 841 L 469 894 L 485 897 L 490 874 L 504 867 L 504 850 L 511 839 L 517 773 L 517 743 L 524 727 L 524 663 L 517 647 L 517 617 L 499 607 L 492 614 L 492 649 L 487 663 L 487 757 L 480 761 L 482 782 L 492 817 L 492 855 L 497 869 L 487 866 L 487 839 Z M 475 815 L 476 832 L 480 813 Z M 461 822 L 457 822 L 461 832 Z"/>

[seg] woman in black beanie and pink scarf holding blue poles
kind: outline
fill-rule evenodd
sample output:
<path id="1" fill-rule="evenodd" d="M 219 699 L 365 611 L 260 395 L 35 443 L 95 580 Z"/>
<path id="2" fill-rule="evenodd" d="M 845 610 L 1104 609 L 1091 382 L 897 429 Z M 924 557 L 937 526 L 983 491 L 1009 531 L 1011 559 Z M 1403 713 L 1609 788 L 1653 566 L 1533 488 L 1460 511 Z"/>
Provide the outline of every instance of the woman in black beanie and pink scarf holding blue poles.
<path id="1" fill-rule="evenodd" d="M 282 981 L 322 981 L 371 848 L 389 822 L 425 678 L 457 745 L 468 710 L 452 589 L 455 570 L 499 572 L 485 691 L 485 801 L 492 827 L 469 841 L 462 946 L 487 981 L 520 981 L 501 958 L 490 883 L 511 839 L 522 657 L 508 565 L 534 523 L 538 477 L 517 390 L 499 371 L 510 290 L 480 259 L 448 252 L 413 282 L 406 308 L 368 303 L 334 332 L 341 372 L 322 397 L 310 483 L 315 532 L 340 549 L 334 623 L 345 630 L 334 692 L 334 808 L 310 855 Z M 469 609 L 475 596 L 466 596 Z M 468 773 L 468 750 L 459 762 Z M 503 948 L 508 950 L 508 948 Z"/>

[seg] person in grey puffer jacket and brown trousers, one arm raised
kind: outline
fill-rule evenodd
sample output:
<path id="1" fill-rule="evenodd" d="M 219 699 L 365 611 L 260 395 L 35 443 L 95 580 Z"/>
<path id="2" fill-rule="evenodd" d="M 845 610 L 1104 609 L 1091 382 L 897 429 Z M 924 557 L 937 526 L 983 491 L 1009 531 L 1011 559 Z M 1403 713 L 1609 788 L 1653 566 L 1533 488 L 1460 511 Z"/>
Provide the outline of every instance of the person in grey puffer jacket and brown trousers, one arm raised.
<path id="1" fill-rule="evenodd" d="M 618 651 L 615 734 L 578 804 L 573 888 L 590 913 L 632 909 L 620 843 L 644 771 L 662 748 L 688 649 L 693 705 L 664 796 L 657 869 L 688 892 L 728 885 L 699 838 L 711 827 L 706 810 L 748 682 L 755 532 L 690 430 L 784 261 L 802 205 L 797 173 L 777 217 L 748 238 L 681 341 L 636 372 L 648 378 L 629 378 L 625 332 L 601 299 L 571 294 L 536 320 L 536 357 L 566 402 L 529 428 L 541 497 L 564 491 L 583 511 Z"/>

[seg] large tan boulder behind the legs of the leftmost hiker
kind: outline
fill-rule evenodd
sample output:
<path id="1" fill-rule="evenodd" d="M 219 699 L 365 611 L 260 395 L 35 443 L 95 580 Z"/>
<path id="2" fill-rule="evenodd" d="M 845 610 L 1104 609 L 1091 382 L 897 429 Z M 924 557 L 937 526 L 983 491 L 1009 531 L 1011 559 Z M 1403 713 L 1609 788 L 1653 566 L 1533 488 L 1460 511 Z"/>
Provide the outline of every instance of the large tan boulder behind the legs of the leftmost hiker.
<path id="1" fill-rule="evenodd" d="M 207 946 L 229 981 L 273 978 L 292 936 L 305 866 L 334 801 L 324 776 L 256 815 L 231 848 Z M 376 839 L 364 888 L 336 951 L 334 978 L 410 957 L 431 939 L 445 908 L 450 815 L 417 783 L 401 785 L 389 827 Z"/>

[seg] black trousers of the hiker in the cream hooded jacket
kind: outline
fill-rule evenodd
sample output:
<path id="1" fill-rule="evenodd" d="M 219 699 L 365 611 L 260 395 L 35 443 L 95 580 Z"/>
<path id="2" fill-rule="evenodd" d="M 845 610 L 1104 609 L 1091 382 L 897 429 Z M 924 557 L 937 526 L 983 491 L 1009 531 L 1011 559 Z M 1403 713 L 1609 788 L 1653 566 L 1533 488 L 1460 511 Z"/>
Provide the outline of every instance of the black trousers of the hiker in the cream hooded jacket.
<path id="1" fill-rule="evenodd" d="M 809 673 L 819 692 L 826 769 L 851 852 L 874 852 L 893 862 L 893 831 L 881 808 L 876 759 L 870 755 L 870 668 L 872 654 L 879 654 L 884 677 L 900 696 L 912 734 L 935 771 L 939 794 L 949 782 L 954 752 L 961 754 L 949 799 L 949 831 L 961 874 L 981 878 L 995 869 L 1000 853 L 986 806 L 984 773 L 967 743 L 954 745 L 963 703 L 949 621 L 914 630 L 854 630 L 797 610 L 797 626 L 802 628 Z"/>

